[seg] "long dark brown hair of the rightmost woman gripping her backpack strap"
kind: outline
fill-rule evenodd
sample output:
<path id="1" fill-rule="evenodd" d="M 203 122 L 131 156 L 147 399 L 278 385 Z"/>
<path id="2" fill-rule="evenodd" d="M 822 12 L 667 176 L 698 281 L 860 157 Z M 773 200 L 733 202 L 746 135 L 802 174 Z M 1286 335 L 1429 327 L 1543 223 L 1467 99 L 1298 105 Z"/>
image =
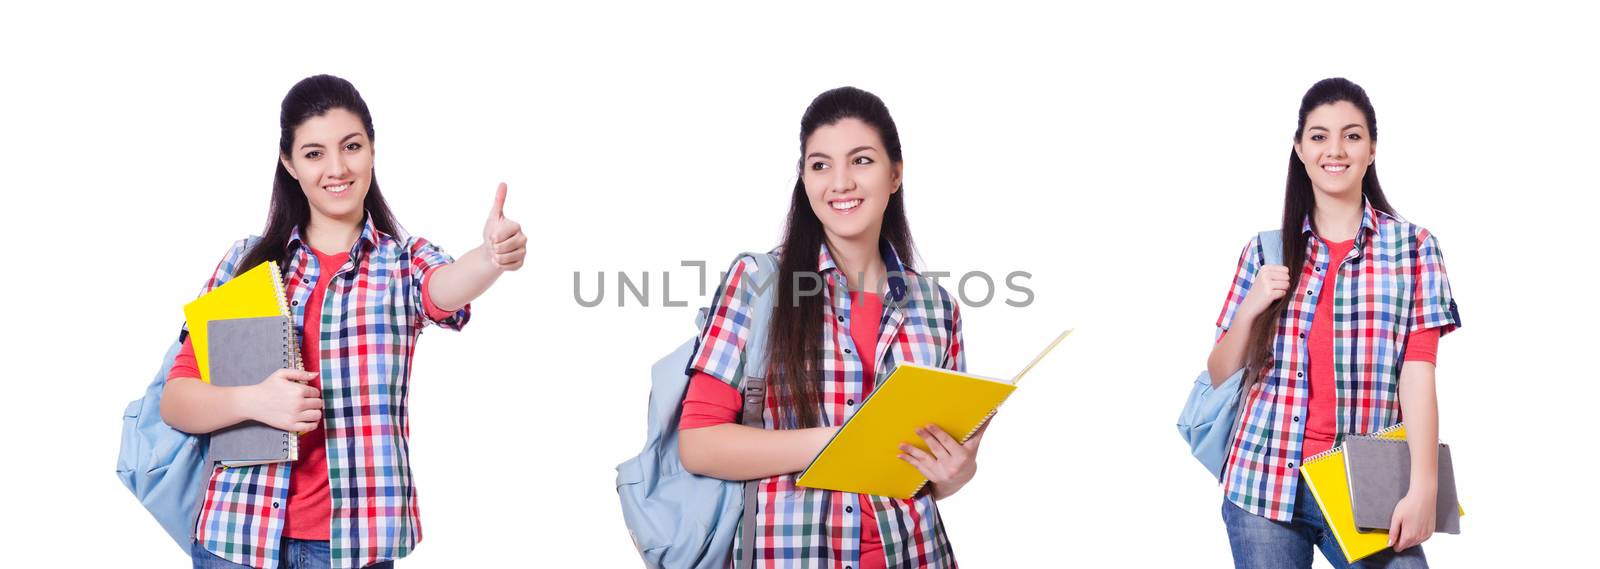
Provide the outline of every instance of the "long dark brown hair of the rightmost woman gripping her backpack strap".
<path id="1" fill-rule="evenodd" d="M 1362 110 L 1366 117 L 1366 133 L 1371 136 L 1373 144 L 1378 144 L 1378 113 L 1373 110 L 1373 101 L 1366 97 L 1366 91 L 1360 85 L 1352 83 L 1347 78 L 1334 77 L 1325 78 L 1312 85 L 1306 96 L 1301 97 L 1299 121 L 1294 126 L 1294 144 L 1299 144 L 1301 136 L 1306 134 L 1306 115 L 1309 115 L 1317 107 L 1349 102 Z M 1366 197 L 1366 203 L 1373 205 L 1373 209 L 1395 214 L 1395 209 L 1389 206 L 1389 198 L 1384 197 L 1382 185 L 1378 184 L 1378 165 L 1366 165 L 1366 174 L 1362 176 L 1362 195 Z M 1272 305 L 1261 312 L 1259 316 L 1251 323 L 1250 344 L 1245 348 L 1245 366 L 1250 369 L 1245 374 L 1245 392 L 1250 393 L 1250 387 L 1261 379 L 1261 376 L 1272 369 L 1272 344 L 1277 337 L 1278 321 L 1282 320 L 1285 310 L 1288 310 L 1290 302 L 1294 302 L 1294 291 L 1299 288 L 1301 273 L 1306 267 L 1306 233 L 1301 229 L 1306 224 L 1306 216 L 1310 216 L 1312 208 L 1317 205 L 1317 197 L 1312 193 L 1310 174 L 1306 173 L 1306 163 L 1301 161 L 1294 149 L 1290 149 L 1290 174 L 1283 184 L 1283 265 L 1290 267 L 1290 289 L 1282 299 L 1272 302 Z M 1314 221 L 1315 224 L 1315 221 Z M 1338 267 L 1341 259 L 1333 259 L 1333 267 Z M 1328 270 L 1334 270 L 1330 267 Z M 1242 400 L 1243 401 L 1243 400 Z"/>

